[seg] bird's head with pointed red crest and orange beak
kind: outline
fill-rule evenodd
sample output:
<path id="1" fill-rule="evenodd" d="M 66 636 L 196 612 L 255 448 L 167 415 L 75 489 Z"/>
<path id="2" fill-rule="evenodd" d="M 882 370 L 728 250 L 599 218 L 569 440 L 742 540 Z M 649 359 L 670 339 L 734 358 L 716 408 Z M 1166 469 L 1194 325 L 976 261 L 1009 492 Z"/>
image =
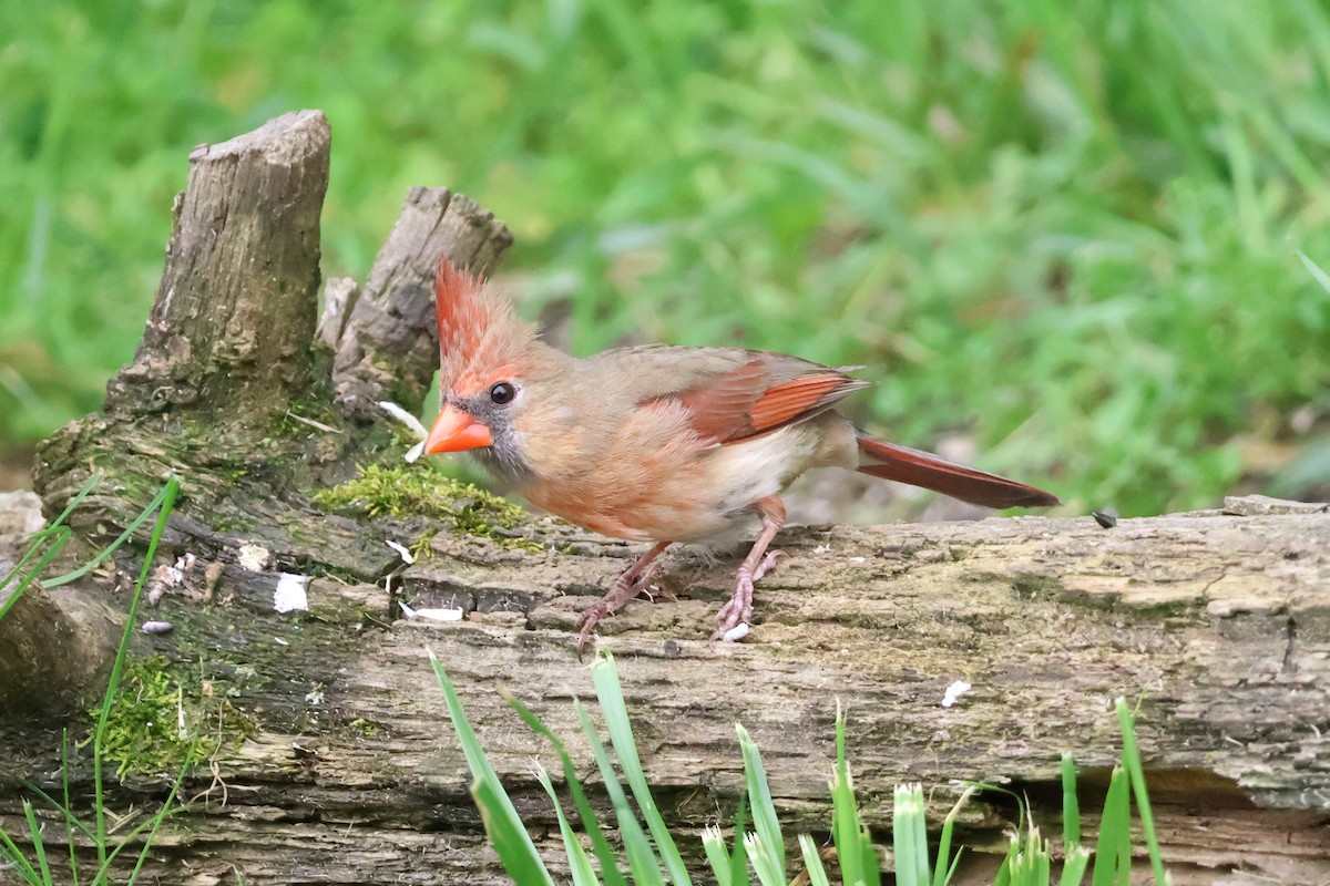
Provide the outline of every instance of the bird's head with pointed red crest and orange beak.
<path id="1" fill-rule="evenodd" d="M 505 473 L 523 469 L 513 420 L 539 352 L 533 324 L 479 276 L 444 259 L 435 280 L 439 316 L 439 417 L 427 453 L 491 449 L 487 461 Z"/>

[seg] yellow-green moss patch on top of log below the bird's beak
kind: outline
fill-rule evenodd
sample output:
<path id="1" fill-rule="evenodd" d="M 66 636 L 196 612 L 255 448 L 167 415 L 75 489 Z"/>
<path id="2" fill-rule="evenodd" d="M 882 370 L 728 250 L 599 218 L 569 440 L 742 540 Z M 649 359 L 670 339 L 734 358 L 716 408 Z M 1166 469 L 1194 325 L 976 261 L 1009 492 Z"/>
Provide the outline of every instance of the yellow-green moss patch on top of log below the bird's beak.
<path id="1" fill-rule="evenodd" d="M 427 517 L 447 523 L 455 533 L 491 538 L 504 547 L 541 547 L 531 539 L 504 534 L 503 530 L 523 522 L 525 511 L 521 507 L 423 466 L 360 468 L 355 480 L 318 491 L 313 499 L 325 510 L 358 517 Z M 422 542 L 427 545 L 428 538 L 419 539 L 418 545 Z"/>

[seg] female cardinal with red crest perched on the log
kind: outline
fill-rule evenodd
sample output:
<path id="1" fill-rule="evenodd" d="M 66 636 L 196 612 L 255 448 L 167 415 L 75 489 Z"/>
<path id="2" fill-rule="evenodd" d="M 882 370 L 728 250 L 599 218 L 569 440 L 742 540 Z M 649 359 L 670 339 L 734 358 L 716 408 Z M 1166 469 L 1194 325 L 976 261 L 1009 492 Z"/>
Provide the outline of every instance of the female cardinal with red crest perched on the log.
<path id="1" fill-rule="evenodd" d="M 644 345 L 576 359 L 536 339 L 509 302 L 444 260 L 435 283 L 440 410 L 427 453 L 476 450 L 539 507 L 585 529 L 654 541 L 581 622 L 596 623 L 646 586 L 676 541 L 701 541 L 757 515 L 716 638 L 753 616 L 753 582 L 785 522 L 781 493 L 809 468 L 835 465 L 988 507 L 1059 503 L 1013 480 L 859 430 L 833 406 L 868 383 L 799 357 L 742 348 Z M 739 626 L 743 626 L 742 628 Z"/>

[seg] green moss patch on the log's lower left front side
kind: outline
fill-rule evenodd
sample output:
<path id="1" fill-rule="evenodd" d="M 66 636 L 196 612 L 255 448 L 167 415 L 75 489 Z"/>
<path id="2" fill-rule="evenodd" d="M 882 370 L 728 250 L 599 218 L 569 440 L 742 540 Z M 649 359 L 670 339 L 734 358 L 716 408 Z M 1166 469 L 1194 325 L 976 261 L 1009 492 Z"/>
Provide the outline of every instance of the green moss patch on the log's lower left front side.
<path id="1" fill-rule="evenodd" d="M 93 720 L 100 709 L 92 711 Z M 106 717 L 101 756 L 116 776 L 161 776 L 238 747 L 257 724 L 210 685 L 161 655 L 125 662 L 120 691 Z M 90 743 L 89 737 L 86 743 Z"/>

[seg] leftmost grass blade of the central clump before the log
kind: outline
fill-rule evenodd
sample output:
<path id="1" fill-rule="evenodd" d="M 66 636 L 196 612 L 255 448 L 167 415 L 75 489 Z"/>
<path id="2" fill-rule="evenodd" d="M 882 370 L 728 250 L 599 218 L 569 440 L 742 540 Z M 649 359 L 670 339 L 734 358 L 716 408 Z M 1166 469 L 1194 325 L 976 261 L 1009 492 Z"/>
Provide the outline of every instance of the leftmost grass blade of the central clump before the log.
<path id="1" fill-rule="evenodd" d="M 434 650 L 427 648 L 426 651 L 430 654 L 430 665 L 434 668 L 435 679 L 443 691 L 444 703 L 448 707 L 448 717 L 452 720 L 452 728 L 458 733 L 459 744 L 462 744 L 462 753 L 466 756 L 467 766 L 475 777 L 475 782 L 471 785 L 471 794 L 480 809 L 480 818 L 485 825 L 485 833 L 489 836 L 495 851 L 499 854 L 499 861 L 503 862 L 504 870 L 508 871 L 508 875 L 515 882 L 524 885 L 547 883 L 548 886 L 553 886 L 555 881 L 545 869 L 545 863 L 540 859 L 536 843 L 523 826 L 517 810 L 508 797 L 508 792 L 503 789 L 499 776 L 480 747 L 480 740 L 476 737 L 475 729 L 471 728 L 471 721 L 467 720 L 467 713 L 462 708 L 462 699 L 458 696 L 452 680 L 448 679 L 447 671 L 444 671 L 439 659 L 435 658 Z"/>

